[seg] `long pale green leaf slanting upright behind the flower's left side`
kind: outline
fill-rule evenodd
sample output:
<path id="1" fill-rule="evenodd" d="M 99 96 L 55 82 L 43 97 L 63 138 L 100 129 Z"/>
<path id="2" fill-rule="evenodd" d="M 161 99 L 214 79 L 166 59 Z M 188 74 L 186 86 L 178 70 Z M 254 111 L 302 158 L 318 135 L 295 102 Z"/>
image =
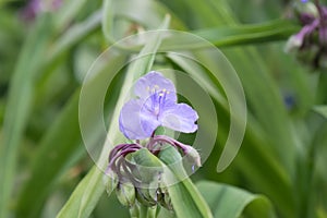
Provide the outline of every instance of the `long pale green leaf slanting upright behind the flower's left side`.
<path id="1" fill-rule="evenodd" d="M 162 28 L 167 28 L 169 25 L 169 19 L 166 19 L 162 23 Z M 145 74 L 153 65 L 154 56 L 157 48 L 159 47 L 161 39 L 160 34 L 156 33 L 154 37 L 148 41 L 148 44 L 141 51 L 135 61 L 130 65 L 125 81 L 121 87 L 121 93 L 114 108 L 112 109 L 112 118 L 109 130 L 108 138 L 112 140 L 112 143 L 119 143 L 119 126 L 118 118 L 120 114 L 120 109 L 123 106 L 125 98 L 128 96 L 128 90 L 132 86 L 135 80 L 137 80 L 142 74 Z M 110 51 L 110 50 L 109 50 Z M 117 52 L 116 50 L 113 52 Z M 108 75 L 104 75 L 108 76 Z M 107 80 L 104 80 L 107 81 Z M 97 88 L 100 85 L 108 85 L 104 83 L 95 83 Z M 88 87 L 92 92 L 93 86 Z M 92 105 L 92 104 L 90 104 Z M 101 169 L 106 168 L 107 157 L 112 145 L 106 143 L 104 145 L 102 152 L 98 159 L 98 167 Z M 65 203 L 58 217 L 88 217 L 93 209 L 95 208 L 99 197 L 105 191 L 105 184 L 102 183 L 104 172 L 97 166 L 93 167 L 92 171 L 87 173 L 86 178 L 82 180 L 78 186 L 74 190 L 70 199 Z"/>

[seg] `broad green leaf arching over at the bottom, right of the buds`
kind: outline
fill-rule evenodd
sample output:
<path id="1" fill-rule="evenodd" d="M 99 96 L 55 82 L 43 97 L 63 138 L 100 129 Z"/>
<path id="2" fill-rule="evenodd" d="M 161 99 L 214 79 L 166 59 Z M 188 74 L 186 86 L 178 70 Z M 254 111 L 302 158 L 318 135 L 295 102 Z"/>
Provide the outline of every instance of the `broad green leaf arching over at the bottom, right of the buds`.
<path id="1" fill-rule="evenodd" d="M 196 186 L 217 218 L 238 218 L 244 214 L 253 218 L 276 217 L 270 202 L 263 195 L 209 181 L 201 181 Z"/>

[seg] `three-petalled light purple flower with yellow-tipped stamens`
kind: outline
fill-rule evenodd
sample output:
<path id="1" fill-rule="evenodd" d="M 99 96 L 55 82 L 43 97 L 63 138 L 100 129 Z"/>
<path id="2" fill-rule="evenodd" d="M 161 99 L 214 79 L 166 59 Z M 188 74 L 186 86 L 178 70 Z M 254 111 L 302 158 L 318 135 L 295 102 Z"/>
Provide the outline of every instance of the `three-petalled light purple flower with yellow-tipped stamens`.
<path id="1" fill-rule="evenodd" d="M 198 116 L 186 104 L 177 104 L 173 83 L 152 71 L 134 87 L 137 99 L 128 101 L 120 113 L 120 131 L 130 140 L 152 136 L 158 126 L 192 133 L 197 130 Z"/>

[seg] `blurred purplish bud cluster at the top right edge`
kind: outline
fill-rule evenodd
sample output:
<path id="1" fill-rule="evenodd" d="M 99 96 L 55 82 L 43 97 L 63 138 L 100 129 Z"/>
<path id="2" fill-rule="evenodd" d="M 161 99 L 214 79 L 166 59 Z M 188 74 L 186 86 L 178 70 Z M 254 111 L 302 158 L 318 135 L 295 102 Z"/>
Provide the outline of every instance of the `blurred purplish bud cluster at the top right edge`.
<path id="1" fill-rule="evenodd" d="M 327 68 L 327 7 L 318 0 L 314 3 L 302 0 L 295 7 L 301 31 L 291 36 L 286 51 L 294 52 L 296 58 L 314 69 Z"/>

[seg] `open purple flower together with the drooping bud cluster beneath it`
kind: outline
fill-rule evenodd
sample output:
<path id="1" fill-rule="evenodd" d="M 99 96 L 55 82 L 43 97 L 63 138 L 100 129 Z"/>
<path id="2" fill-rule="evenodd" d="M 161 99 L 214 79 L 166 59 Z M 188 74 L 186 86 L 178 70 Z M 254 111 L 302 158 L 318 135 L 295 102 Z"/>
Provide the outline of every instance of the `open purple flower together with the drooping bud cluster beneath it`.
<path id="1" fill-rule="evenodd" d="M 177 102 L 174 85 L 158 72 L 141 77 L 134 93 L 138 98 L 123 106 L 119 124 L 125 137 L 135 142 L 117 145 L 110 152 L 105 175 L 107 191 L 116 190 L 120 203 L 135 216 L 140 205 L 172 210 L 164 156 L 173 159 L 167 152 L 173 149 L 178 154 L 173 161 L 185 157 L 192 171 L 201 167 L 201 157 L 192 146 L 155 133 L 158 126 L 195 132 L 198 116 L 186 104 Z"/>

